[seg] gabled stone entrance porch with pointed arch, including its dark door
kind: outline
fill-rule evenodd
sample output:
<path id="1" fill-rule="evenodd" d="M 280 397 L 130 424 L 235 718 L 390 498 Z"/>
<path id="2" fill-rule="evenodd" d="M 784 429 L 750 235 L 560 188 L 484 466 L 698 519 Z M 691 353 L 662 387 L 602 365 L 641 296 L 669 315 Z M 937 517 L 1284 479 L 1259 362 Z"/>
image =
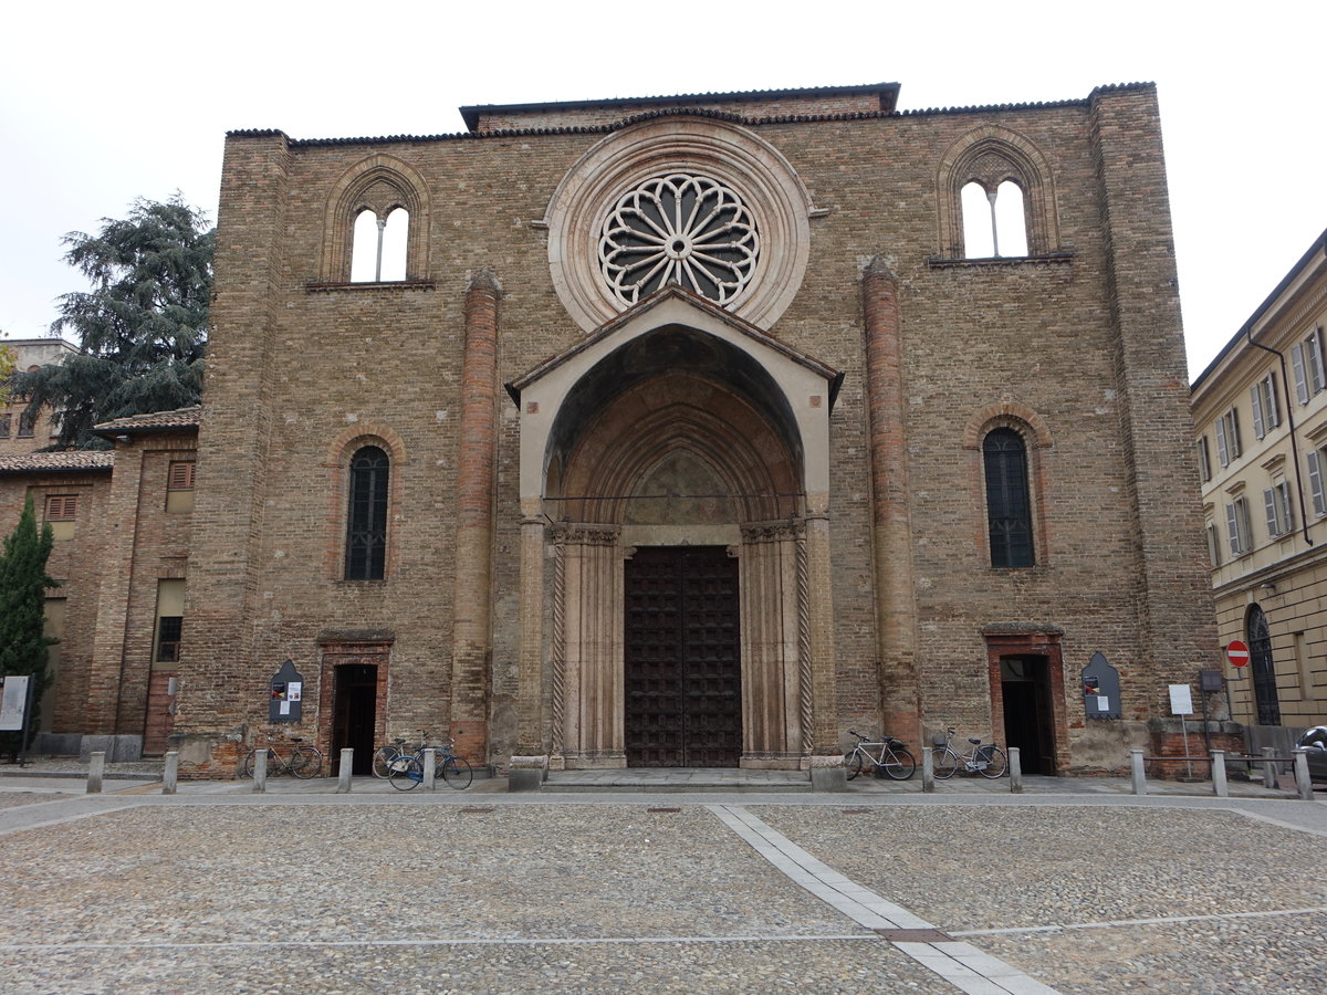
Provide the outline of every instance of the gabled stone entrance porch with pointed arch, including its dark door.
<path id="1" fill-rule="evenodd" d="M 553 765 L 804 765 L 836 386 L 677 288 L 511 385 L 523 600 L 548 602 L 523 604 L 522 720 Z"/>

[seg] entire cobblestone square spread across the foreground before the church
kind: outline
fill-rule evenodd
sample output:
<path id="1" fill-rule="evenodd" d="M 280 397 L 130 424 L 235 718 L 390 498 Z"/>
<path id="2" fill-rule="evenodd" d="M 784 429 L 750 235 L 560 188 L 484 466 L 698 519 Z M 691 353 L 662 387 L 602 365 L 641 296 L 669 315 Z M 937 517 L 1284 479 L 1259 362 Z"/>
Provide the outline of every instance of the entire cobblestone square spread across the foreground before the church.
<path id="1" fill-rule="evenodd" d="M 1026 986 L 941 976 L 721 811 Z M 85 797 L 0 779 L 0 992 L 1318 995 L 1324 866 L 1318 801 Z"/>

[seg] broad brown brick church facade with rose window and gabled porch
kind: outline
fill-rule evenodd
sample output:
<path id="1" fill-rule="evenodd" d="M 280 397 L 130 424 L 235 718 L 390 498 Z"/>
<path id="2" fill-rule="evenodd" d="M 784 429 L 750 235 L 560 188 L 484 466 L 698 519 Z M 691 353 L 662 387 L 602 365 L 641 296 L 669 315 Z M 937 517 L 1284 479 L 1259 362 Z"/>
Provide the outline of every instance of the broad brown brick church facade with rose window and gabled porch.
<path id="1" fill-rule="evenodd" d="M 896 97 L 232 133 L 187 549 L 123 616 L 183 581 L 171 694 L 98 624 L 68 731 L 169 707 L 222 775 L 264 731 L 555 769 L 807 768 L 849 727 L 1044 773 L 1157 748 L 1216 635 L 1156 93 Z M 149 422 L 107 429 L 114 479 Z"/>

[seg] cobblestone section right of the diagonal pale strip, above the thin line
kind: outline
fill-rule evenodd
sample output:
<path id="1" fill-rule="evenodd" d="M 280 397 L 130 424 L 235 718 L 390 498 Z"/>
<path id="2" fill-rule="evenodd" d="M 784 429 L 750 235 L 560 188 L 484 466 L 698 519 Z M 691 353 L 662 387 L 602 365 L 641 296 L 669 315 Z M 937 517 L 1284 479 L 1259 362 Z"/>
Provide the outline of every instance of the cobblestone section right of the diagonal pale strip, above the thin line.
<path id="1" fill-rule="evenodd" d="M 1327 838 L 1233 812 L 889 807 L 752 812 L 947 933 L 1327 909 Z M 1327 950 L 1324 950 L 1327 963 Z"/>

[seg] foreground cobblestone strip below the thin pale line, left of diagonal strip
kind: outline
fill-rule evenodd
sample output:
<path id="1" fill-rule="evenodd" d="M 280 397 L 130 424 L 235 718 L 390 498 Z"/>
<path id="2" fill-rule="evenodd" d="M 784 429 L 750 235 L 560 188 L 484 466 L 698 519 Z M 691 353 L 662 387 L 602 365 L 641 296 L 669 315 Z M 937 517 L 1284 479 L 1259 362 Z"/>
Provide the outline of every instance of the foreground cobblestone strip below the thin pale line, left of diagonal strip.
<path id="1" fill-rule="evenodd" d="M 178 951 L 0 950 L 12 995 L 499 995 L 506 992 L 954 991 L 878 939 L 216 947 Z"/>

